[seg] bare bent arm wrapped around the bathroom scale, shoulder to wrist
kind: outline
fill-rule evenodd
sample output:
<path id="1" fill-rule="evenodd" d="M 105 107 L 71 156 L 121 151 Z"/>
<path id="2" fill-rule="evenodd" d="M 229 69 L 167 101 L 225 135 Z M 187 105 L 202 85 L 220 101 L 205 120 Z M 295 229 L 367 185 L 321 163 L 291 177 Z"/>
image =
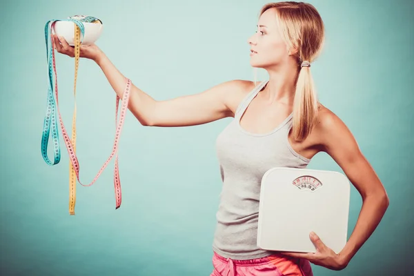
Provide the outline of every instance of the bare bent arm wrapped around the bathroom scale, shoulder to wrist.
<path id="1" fill-rule="evenodd" d="M 347 265 L 380 224 L 389 206 L 389 199 L 380 178 L 344 122 L 333 112 L 329 112 L 321 121 L 323 151 L 344 170 L 363 201 L 351 237 L 339 253 L 343 264 Z"/>

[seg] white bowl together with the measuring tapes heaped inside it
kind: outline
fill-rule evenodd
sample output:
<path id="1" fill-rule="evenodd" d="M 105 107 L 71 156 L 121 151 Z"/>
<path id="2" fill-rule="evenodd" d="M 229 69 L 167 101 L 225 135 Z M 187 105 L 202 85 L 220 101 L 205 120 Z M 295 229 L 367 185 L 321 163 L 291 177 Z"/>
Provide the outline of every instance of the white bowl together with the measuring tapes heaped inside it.
<path id="1" fill-rule="evenodd" d="M 89 17 L 85 15 L 75 15 L 68 19 L 74 19 L 80 21 L 83 24 L 84 36 L 80 34 L 80 41 L 83 46 L 88 46 L 95 43 L 99 39 L 102 33 L 103 24 L 102 21 L 96 17 Z M 75 46 L 75 28 L 77 27 L 74 21 L 61 20 L 56 21 L 53 28 L 52 34 L 57 34 L 63 37 L 70 46 Z"/>

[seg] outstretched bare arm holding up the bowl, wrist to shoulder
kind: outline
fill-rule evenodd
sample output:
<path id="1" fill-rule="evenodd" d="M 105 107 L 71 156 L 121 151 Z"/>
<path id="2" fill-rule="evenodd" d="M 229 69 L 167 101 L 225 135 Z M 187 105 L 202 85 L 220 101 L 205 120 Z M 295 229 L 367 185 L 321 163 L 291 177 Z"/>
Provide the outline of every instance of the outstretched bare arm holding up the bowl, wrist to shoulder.
<path id="1" fill-rule="evenodd" d="M 122 99 L 125 77 L 103 53 L 95 60 L 113 90 Z M 235 95 L 250 81 L 233 80 L 220 83 L 204 92 L 157 101 L 132 83 L 128 109 L 143 126 L 195 126 L 233 116 L 230 108 Z"/>

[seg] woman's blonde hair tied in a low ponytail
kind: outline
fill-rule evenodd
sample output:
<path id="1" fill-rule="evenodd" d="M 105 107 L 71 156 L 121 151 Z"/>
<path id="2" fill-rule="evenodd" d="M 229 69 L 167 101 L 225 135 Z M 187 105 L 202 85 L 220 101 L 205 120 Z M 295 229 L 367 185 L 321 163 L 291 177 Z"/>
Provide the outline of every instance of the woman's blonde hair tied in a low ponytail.
<path id="1" fill-rule="evenodd" d="M 260 10 L 275 8 L 277 24 L 288 50 L 297 50 L 297 76 L 295 98 L 293 102 L 293 138 L 306 139 L 315 126 L 319 101 L 311 67 L 302 67 L 303 61 L 312 62 L 324 46 L 324 22 L 319 12 L 309 3 L 284 1 L 267 3 Z"/>

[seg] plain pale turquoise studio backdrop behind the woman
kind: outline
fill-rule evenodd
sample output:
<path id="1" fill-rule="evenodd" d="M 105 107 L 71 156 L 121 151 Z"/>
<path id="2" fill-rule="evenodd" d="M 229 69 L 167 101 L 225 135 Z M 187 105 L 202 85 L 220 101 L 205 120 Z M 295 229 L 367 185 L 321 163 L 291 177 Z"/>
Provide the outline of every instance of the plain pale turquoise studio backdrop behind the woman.
<path id="1" fill-rule="evenodd" d="M 90 187 L 77 184 L 68 213 L 68 152 L 41 157 L 48 66 L 44 27 L 75 14 L 98 17 L 97 45 L 158 100 L 230 79 L 253 80 L 247 39 L 267 1 L 2 1 L 1 275 L 210 275 L 221 179 L 215 139 L 231 118 L 187 128 L 146 128 L 126 116 L 119 144 L 122 205 L 115 210 L 114 159 Z M 351 129 L 391 205 L 345 270 L 315 275 L 400 275 L 413 270 L 413 1 L 310 1 L 326 24 L 313 63 L 319 99 Z M 57 55 L 59 102 L 71 132 L 75 59 Z M 258 71 L 258 79 L 266 79 Z M 59 132 L 60 133 L 60 132 Z M 109 157 L 115 92 L 81 59 L 77 156 L 88 184 Z M 61 135 L 60 135 L 61 137 Z M 52 151 L 50 150 L 50 157 Z M 342 170 L 326 154 L 308 168 Z M 348 235 L 362 200 L 351 189 Z M 277 233 L 275 233 L 277 235 Z"/>

